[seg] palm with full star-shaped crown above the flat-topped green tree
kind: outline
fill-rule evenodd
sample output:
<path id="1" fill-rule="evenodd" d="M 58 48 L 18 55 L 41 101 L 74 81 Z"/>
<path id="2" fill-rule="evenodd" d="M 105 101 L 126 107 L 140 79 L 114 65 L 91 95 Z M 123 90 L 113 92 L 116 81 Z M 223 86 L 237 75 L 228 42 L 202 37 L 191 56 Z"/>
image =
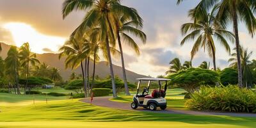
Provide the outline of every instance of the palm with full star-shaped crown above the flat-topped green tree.
<path id="1" fill-rule="evenodd" d="M 207 49 L 209 56 L 212 57 L 214 70 L 216 70 L 216 47 L 214 43 L 214 38 L 220 41 L 220 44 L 225 47 L 225 50 L 230 53 L 230 47 L 228 45 L 227 40 L 228 38 L 230 41 L 234 40 L 234 35 L 230 31 L 226 31 L 223 29 L 214 13 L 218 6 L 214 6 L 211 13 L 207 13 L 206 10 L 203 10 L 200 13 L 200 17 L 195 20 L 195 22 L 189 22 L 182 25 L 181 31 L 182 35 L 186 35 L 184 39 L 181 41 L 180 45 L 184 45 L 184 43 L 188 42 L 189 40 L 194 40 L 196 38 L 195 44 L 191 51 L 191 60 L 193 60 L 196 52 L 198 52 L 199 48 L 202 47 Z M 190 15 L 194 15 L 196 10 L 191 10 Z M 193 17 L 192 17 L 193 18 Z"/>

